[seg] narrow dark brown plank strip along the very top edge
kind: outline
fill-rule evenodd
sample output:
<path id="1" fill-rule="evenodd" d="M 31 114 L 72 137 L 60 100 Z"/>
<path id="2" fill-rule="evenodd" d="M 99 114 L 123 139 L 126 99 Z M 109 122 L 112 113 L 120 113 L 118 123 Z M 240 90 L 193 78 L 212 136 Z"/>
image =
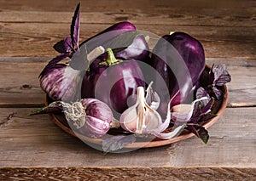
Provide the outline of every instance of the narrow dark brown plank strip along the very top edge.
<path id="1" fill-rule="evenodd" d="M 240 10 L 240 13 L 246 13 L 244 11 L 250 11 L 255 8 L 255 1 L 253 0 L 216 0 L 214 2 L 206 2 L 204 0 L 160 0 L 160 1 L 147 1 L 147 0 L 131 0 L 116 1 L 112 0 L 106 2 L 105 0 L 86 0 L 84 1 L 69 1 L 69 0 L 55 0 L 55 1 L 38 1 L 33 0 L 20 0 L 19 2 L 1 0 L 0 9 L 4 10 L 19 10 L 19 11 L 51 11 L 51 12 L 73 12 L 73 8 L 81 2 L 82 8 L 86 9 L 86 12 L 96 12 L 101 10 L 133 10 L 135 12 L 154 12 L 162 13 L 163 11 L 176 8 L 187 8 L 189 13 L 201 13 L 204 9 L 226 9 L 225 14 L 232 14 L 233 11 Z M 186 12 L 183 12 L 184 14 Z M 215 11 L 216 13 L 216 11 Z M 210 12 L 209 12 L 210 14 Z"/>

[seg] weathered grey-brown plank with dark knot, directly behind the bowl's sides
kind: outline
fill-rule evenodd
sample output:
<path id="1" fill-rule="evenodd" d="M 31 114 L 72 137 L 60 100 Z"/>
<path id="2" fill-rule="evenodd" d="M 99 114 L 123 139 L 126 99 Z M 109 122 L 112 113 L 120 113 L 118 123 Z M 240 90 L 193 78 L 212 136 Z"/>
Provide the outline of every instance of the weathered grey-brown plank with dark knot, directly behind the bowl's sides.
<path id="1" fill-rule="evenodd" d="M 49 61 L 47 57 L 0 58 L 0 106 L 42 106 L 44 92 L 38 75 Z M 226 64 L 232 81 L 228 84 L 230 106 L 256 105 L 256 60 L 207 59 L 207 64 Z M 17 73 L 19 72 L 19 73 Z"/>

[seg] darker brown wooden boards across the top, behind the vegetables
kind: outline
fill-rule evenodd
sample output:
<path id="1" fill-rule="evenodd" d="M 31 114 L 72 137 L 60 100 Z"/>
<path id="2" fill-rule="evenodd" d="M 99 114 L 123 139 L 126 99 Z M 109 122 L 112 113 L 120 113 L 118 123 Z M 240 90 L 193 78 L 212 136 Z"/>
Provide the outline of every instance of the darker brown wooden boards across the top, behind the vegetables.
<path id="1" fill-rule="evenodd" d="M 51 47 L 69 36 L 76 2 L 51 2 L 52 6 L 49 2 L 29 2 L 0 1 L 5 4 L 0 6 L 4 7 L 0 11 L 0 56 L 54 56 Z M 129 20 L 138 29 L 159 36 L 169 31 L 188 32 L 203 43 L 207 57 L 255 59 L 255 2 L 231 2 L 89 1 L 81 8 L 80 39 L 87 39 L 118 21 Z"/>

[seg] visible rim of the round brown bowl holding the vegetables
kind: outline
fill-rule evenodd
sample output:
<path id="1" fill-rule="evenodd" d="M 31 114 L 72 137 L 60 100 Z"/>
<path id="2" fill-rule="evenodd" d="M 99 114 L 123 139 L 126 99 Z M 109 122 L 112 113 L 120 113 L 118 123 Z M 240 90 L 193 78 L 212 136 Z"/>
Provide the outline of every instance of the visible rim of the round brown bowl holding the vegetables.
<path id="1" fill-rule="evenodd" d="M 209 69 L 210 69 L 209 66 L 206 65 L 206 70 L 208 71 Z M 212 124 L 217 122 L 218 118 L 224 113 L 224 109 L 227 105 L 227 100 L 228 100 L 228 90 L 227 90 L 226 86 L 223 86 L 221 89 L 224 92 L 224 98 L 219 101 L 214 101 L 214 105 L 212 106 L 213 107 L 212 113 L 216 114 L 217 116 L 215 116 L 214 118 L 208 120 L 205 124 L 203 124 L 202 126 L 205 128 L 211 127 Z M 51 100 L 47 96 L 46 104 L 49 105 L 50 102 L 51 102 Z M 77 137 L 77 138 L 83 140 L 84 142 L 87 142 L 87 143 L 89 142 L 90 144 L 102 145 L 102 139 L 92 139 L 92 138 L 86 137 L 80 133 L 75 133 L 73 131 L 73 129 L 71 129 L 69 127 L 64 114 L 52 114 L 52 116 L 54 117 L 53 121 L 55 122 L 55 124 L 57 126 L 61 127 L 61 129 L 64 130 L 65 132 L 73 135 L 74 137 Z M 158 147 L 158 146 L 163 146 L 166 144 L 176 143 L 183 139 L 189 139 L 192 136 L 194 136 L 194 133 L 190 133 L 189 131 L 184 130 L 183 133 L 181 133 L 179 136 L 177 136 L 176 138 L 173 138 L 173 139 L 153 139 L 151 141 L 141 139 L 139 141 L 136 141 L 133 144 L 126 145 L 125 148 L 135 149 L 135 148 Z"/>

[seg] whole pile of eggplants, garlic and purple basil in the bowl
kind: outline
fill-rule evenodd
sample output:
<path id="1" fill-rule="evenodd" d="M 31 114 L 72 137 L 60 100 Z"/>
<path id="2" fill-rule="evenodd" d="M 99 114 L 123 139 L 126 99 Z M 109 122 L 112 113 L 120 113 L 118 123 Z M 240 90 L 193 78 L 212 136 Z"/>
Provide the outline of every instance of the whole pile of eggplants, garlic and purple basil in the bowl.
<path id="1" fill-rule="evenodd" d="M 76 133 L 101 138 L 105 152 L 184 129 L 207 144 L 202 125 L 216 116 L 212 105 L 230 82 L 225 65 L 207 68 L 201 42 L 184 32 L 160 37 L 150 51 L 150 37 L 127 21 L 79 44 L 79 7 L 70 37 L 54 45 L 60 54 L 39 75 L 51 103 L 31 115 L 64 113 Z"/>

